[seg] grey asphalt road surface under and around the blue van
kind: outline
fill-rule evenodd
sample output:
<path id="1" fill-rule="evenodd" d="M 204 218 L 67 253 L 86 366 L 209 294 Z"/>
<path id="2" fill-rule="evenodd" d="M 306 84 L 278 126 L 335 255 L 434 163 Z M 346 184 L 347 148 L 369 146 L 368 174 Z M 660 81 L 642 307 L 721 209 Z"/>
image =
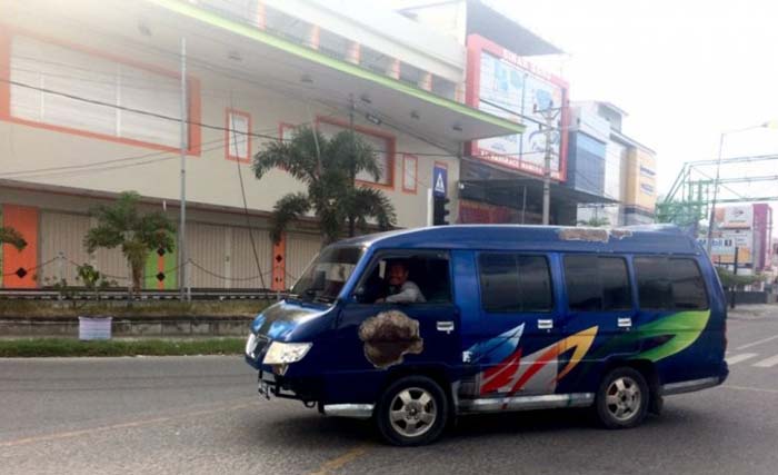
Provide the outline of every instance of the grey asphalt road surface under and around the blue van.
<path id="1" fill-rule="evenodd" d="M 778 308 L 729 320 L 726 385 L 631 431 L 586 413 L 470 417 L 438 444 L 260 400 L 237 357 L 0 359 L 0 473 L 775 474 Z"/>

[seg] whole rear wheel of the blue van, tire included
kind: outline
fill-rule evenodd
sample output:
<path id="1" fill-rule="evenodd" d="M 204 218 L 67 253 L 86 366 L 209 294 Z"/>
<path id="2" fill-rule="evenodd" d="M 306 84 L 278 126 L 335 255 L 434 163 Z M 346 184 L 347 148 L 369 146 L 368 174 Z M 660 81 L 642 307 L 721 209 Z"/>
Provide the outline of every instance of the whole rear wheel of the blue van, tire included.
<path id="1" fill-rule="evenodd" d="M 650 398 L 648 383 L 640 372 L 630 367 L 612 369 L 597 390 L 597 418 L 610 429 L 635 427 L 646 418 Z"/>

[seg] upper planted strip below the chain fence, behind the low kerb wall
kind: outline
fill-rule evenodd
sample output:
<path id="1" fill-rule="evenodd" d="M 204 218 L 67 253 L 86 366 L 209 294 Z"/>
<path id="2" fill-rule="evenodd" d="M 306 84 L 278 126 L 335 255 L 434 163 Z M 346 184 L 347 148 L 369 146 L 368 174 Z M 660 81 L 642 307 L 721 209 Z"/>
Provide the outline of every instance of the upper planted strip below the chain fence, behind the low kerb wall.
<path id="1" fill-rule="evenodd" d="M 255 317 L 276 300 L 0 300 L 0 317 Z"/>

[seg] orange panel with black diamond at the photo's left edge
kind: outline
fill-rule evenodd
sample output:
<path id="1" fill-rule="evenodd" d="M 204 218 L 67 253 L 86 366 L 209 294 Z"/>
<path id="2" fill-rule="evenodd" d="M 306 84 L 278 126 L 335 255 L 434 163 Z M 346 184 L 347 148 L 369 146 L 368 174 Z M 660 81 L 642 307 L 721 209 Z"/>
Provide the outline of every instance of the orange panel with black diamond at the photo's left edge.
<path id="1" fill-rule="evenodd" d="M 19 231 L 27 247 L 17 250 L 9 244 L 2 245 L 3 286 L 7 288 L 36 288 L 38 286 L 38 208 L 3 205 L 2 224 Z"/>

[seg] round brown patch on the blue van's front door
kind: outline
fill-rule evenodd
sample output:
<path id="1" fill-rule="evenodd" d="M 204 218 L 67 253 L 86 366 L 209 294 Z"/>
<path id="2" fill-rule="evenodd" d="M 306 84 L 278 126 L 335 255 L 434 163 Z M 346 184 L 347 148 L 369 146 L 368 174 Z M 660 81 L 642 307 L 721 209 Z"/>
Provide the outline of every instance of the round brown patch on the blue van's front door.
<path id="1" fill-rule="evenodd" d="M 379 369 L 399 365 L 403 355 L 425 349 L 419 321 L 398 310 L 381 311 L 362 321 L 359 339 L 365 343 L 365 357 Z"/>

